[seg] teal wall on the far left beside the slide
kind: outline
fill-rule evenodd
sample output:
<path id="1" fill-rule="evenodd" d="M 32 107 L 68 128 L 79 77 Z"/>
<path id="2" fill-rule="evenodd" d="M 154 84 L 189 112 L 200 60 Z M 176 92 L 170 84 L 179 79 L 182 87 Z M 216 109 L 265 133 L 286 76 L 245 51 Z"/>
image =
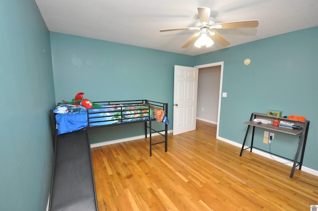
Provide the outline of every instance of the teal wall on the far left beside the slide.
<path id="1" fill-rule="evenodd" d="M 55 103 L 49 31 L 34 0 L 1 0 L 0 26 L 0 210 L 45 211 Z"/>

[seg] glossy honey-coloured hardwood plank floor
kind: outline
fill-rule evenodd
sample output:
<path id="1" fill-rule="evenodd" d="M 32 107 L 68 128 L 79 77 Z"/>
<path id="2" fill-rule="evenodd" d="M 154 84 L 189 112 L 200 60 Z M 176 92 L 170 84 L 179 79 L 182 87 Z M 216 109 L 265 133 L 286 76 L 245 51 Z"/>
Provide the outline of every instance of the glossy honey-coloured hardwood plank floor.
<path id="1" fill-rule="evenodd" d="M 161 136 L 160 136 L 161 137 Z M 159 136 L 153 140 L 161 139 Z M 92 148 L 99 211 L 310 211 L 318 177 L 216 140 L 216 126 Z"/>

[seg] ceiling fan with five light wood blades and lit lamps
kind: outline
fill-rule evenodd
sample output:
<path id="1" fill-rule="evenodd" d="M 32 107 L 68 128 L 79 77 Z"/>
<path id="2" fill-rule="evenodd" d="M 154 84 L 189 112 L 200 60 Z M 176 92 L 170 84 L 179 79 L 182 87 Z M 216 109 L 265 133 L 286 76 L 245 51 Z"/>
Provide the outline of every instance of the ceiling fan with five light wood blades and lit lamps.
<path id="1" fill-rule="evenodd" d="M 200 48 L 203 45 L 210 47 L 213 45 L 213 40 L 217 41 L 221 46 L 226 47 L 231 43 L 225 39 L 215 29 L 230 29 L 230 28 L 253 28 L 258 26 L 258 20 L 233 21 L 225 23 L 215 23 L 215 19 L 210 17 L 211 9 L 208 7 L 198 7 L 199 19 L 194 27 L 162 29 L 160 32 L 178 31 L 178 30 L 198 30 L 193 34 L 181 48 L 187 48 L 194 40 L 195 46 Z"/>

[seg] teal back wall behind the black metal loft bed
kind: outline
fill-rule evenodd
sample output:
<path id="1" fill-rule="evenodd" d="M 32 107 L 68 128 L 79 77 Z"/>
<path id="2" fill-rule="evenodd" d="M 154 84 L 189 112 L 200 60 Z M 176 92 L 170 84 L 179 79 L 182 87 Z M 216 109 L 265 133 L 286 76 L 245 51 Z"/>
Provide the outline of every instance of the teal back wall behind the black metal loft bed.
<path id="1" fill-rule="evenodd" d="M 165 102 L 172 130 L 174 65 L 193 67 L 194 57 L 55 32 L 50 36 L 56 102 L 70 101 L 78 92 L 91 101 Z M 91 143 L 144 134 L 142 124 L 93 130 Z"/>

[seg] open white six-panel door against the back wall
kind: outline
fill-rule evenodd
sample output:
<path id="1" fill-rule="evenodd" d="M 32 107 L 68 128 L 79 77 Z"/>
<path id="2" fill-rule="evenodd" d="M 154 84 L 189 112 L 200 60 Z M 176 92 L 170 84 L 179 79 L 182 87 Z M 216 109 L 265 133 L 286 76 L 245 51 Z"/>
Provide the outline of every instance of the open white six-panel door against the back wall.
<path id="1" fill-rule="evenodd" d="M 198 69 L 174 66 L 173 135 L 195 130 Z"/>

